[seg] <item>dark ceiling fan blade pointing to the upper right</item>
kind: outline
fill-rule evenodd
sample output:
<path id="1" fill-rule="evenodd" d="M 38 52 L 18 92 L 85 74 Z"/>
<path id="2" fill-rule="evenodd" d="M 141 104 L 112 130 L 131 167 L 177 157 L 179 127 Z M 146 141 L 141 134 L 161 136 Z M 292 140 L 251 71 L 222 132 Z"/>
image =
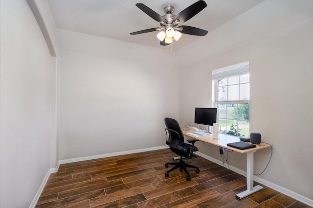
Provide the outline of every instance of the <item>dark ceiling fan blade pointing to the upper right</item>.
<path id="1" fill-rule="evenodd" d="M 188 6 L 186 9 L 179 12 L 175 19 L 179 19 L 180 23 L 187 21 L 188 19 L 194 17 L 196 14 L 201 12 L 202 9 L 206 7 L 204 0 L 199 0 L 196 3 Z"/>

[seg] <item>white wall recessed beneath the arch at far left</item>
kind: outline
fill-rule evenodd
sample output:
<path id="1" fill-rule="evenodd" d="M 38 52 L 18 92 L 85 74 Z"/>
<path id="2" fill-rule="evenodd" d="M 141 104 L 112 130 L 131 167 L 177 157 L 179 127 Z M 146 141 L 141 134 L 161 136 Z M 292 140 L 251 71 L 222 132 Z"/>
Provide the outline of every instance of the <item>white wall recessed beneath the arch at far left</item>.
<path id="1" fill-rule="evenodd" d="M 28 207 L 49 169 L 51 57 L 25 0 L 0 7 L 0 207 Z"/>

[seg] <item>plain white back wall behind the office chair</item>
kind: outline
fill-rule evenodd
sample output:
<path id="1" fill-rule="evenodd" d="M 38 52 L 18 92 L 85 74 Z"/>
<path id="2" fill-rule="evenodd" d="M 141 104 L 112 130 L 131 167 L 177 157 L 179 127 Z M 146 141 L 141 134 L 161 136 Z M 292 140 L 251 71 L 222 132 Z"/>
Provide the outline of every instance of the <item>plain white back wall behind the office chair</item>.
<path id="1" fill-rule="evenodd" d="M 164 118 L 179 119 L 178 69 L 103 56 L 120 50 L 107 38 L 65 30 L 59 38 L 67 42 L 59 62 L 59 159 L 164 146 Z"/>

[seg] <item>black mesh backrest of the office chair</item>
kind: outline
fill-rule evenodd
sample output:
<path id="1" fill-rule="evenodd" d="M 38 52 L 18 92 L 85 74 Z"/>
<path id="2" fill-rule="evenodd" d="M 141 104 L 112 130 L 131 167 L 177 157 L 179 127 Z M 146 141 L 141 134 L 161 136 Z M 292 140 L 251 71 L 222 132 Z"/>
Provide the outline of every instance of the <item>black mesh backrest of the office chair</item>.
<path id="1" fill-rule="evenodd" d="M 168 133 L 166 144 L 179 151 L 186 151 L 185 148 L 183 148 L 184 136 L 177 120 L 173 118 L 165 118 L 164 121 L 166 132 Z"/>

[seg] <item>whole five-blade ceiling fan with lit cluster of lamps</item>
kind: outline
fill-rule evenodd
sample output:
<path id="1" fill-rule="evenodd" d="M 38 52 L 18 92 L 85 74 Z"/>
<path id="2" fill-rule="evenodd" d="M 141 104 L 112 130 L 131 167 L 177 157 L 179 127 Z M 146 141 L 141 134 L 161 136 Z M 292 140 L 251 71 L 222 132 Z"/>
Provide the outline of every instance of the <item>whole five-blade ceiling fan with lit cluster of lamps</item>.
<path id="1" fill-rule="evenodd" d="M 150 16 L 152 19 L 155 19 L 160 23 L 160 27 L 140 30 L 137 32 L 130 33 L 131 35 L 138 35 L 142 33 L 149 33 L 153 31 L 160 31 L 156 37 L 160 40 L 161 45 L 169 45 L 174 40 L 179 40 L 182 33 L 194 36 L 205 36 L 207 34 L 206 30 L 202 30 L 197 27 L 191 27 L 186 25 L 178 26 L 180 23 L 191 19 L 202 9 L 206 7 L 206 3 L 203 0 L 199 0 L 194 4 L 188 6 L 179 14 L 174 15 L 173 12 L 175 10 L 174 6 L 168 5 L 164 7 L 164 16 L 160 16 L 155 11 L 144 5 L 143 3 L 136 3 L 136 6 L 141 9 L 144 13 Z"/>

